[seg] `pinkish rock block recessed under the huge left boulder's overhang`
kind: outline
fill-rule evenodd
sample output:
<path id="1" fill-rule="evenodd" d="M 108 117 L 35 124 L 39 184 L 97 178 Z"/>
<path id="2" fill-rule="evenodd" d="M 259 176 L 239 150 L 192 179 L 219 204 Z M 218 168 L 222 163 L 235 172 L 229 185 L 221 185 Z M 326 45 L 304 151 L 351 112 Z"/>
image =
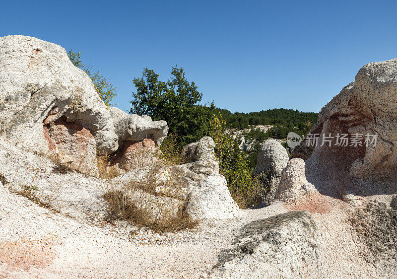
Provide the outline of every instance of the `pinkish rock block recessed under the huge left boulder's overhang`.
<path id="1" fill-rule="evenodd" d="M 45 125 L 44 132 L 55 161 L 83 174 L 98 175 L 94 136 L 80 122 L 60 118 Z"/>

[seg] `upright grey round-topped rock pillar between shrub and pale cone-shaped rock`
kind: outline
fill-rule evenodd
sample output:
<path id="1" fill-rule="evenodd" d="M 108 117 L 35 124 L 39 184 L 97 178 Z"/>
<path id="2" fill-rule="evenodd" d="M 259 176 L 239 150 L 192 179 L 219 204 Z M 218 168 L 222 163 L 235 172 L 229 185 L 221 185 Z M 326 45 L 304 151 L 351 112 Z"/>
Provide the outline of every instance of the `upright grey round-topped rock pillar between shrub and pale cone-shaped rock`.
<path id="1" fill-rule="evenodd" d="M 268 204 L 274 198 L 274 193 L 280 183 L 281 171 L 288 162 L 288 153 L 275 139 L 267 139 L 258 152 L 258 163 L 253 175 L 260 176 L 263 189 L 260 197 Z"/>

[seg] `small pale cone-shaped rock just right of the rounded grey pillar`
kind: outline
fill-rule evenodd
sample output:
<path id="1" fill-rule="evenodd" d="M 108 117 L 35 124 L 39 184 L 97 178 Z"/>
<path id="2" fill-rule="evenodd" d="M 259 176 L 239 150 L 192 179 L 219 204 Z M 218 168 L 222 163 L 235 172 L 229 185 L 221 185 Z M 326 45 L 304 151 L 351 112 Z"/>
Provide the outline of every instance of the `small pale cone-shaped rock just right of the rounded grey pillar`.
<path id="1" fill-rule="evenodd" d="M 294 158 L 288 161 L 281 172 L 280 184 L 275 192 L 276 200 L 287 201 L 316 191 L 316 188 L 306 180 L 305 161 Z"/>

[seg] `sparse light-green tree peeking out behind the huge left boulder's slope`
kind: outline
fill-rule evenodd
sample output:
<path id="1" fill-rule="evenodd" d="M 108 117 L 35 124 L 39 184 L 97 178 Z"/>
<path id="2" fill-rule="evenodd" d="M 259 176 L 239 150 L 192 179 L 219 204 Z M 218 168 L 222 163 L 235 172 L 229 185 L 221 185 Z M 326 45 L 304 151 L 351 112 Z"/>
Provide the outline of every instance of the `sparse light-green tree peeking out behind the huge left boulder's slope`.
<path id="1" fill-rule="evenodd" d="M 103 77 L 99 71 L 91 72 L 92 67 L 86 66 L 81 62 L 81 52 L 74 53 L 73 50 L 69 50 L 67 53 L 71 63 L 77 68 L 85 71 L 86 74 L 91 78 L 92 82 L 94 83 L 95 90 L 98 92 L 99 97 L 104 101 L 105 105 L 111 106 L 111 101 L 114 97 L 117 96 L 116 89 L 110 80 L 107 80 Z"/>

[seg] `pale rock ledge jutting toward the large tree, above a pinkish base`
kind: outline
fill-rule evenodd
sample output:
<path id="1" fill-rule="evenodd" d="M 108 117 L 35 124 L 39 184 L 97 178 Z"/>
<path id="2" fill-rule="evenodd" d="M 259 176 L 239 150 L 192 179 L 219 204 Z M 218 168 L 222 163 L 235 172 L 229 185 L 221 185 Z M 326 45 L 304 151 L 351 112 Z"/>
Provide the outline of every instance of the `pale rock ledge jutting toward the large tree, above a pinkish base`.
<path id="1" fill-rule="evenodd" d="M 147 115 L 130 115 L 116 107 L 110 107 L 109 111 L 120 142 L 126 140 L 138 142 L 143 139 L 151 139 L 160 146 L 161 142 L 167 137 L 168 125 L 164 120 L 152 121 Z"/>

